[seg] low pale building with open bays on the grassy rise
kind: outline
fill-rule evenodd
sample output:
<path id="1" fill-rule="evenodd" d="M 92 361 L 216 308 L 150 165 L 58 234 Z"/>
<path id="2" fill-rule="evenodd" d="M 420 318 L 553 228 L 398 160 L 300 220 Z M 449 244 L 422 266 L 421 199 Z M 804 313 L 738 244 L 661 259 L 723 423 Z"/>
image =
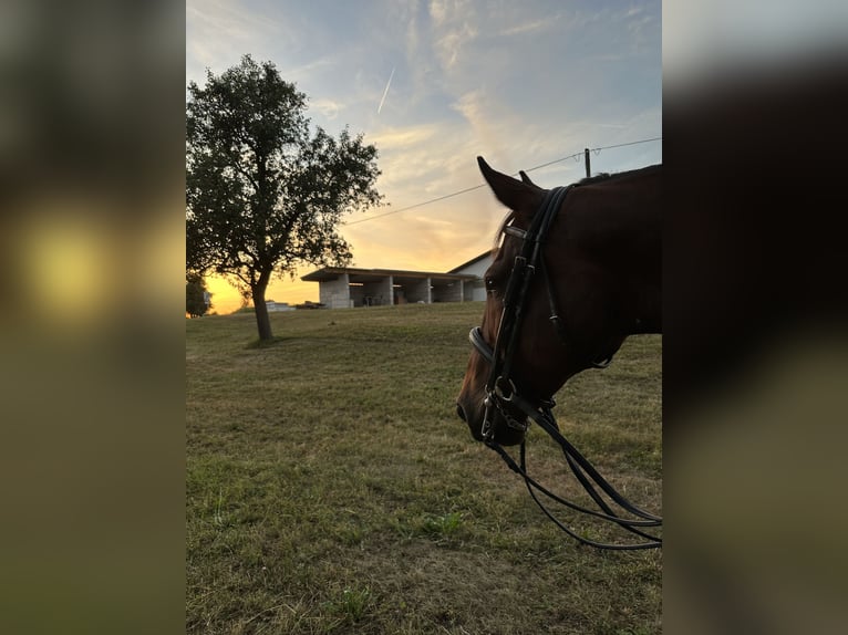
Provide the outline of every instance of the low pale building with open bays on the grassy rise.
<path id="1" fill-rule="evenodd" d="M 301 280 L 318 282 L 319 302 L 330 309 L 464 302 L 486 299 L 483 272 L 489 262 L 486 252 L 446 273 L 327 267 Z"/>

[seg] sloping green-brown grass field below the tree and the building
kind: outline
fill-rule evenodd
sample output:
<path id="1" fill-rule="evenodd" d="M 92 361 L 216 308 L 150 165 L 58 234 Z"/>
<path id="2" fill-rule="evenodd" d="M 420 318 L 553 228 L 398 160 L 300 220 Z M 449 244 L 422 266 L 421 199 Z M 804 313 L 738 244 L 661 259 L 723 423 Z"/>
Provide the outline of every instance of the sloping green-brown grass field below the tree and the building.
<path id="1" fill-rule="evenodd" d="M 186 632 L 660 633 L 662 553 L 549 522 L 454 399 L 480 303 L 186 321 Z M 660 336 L 557 396 L 569 439 L 662 512 Z M 578 500 L 531 429 L 531 473 Z M 592 538 L 616 538 L 565 516 Z"/>

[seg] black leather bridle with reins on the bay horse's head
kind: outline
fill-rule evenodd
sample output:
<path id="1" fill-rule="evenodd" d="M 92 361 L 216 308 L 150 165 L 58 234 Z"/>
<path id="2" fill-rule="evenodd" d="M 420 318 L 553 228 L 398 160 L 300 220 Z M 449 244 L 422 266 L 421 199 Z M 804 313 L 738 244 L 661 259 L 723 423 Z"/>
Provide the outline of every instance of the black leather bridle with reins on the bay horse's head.
<path id="1" fill-rule="evenodd" d="M 598 472 L 597 469 L 587 460 L 571 443 L 559 431 L 557 421 L 554 418 L 551 408 L 555 403 L 551 397 L 548 398 L 528 398 L 521 394 L 521 382 L 515 376 L 513 369 L 513 360 L 515 357 L 516 347 L 518 345 L 518 333 L 520 331 L 521 320 L 524 318 L 524 311 L 526 309 L 527 299 L 529 295 L 530 283 L 534 274 L 537 270 L 541 272 L 545 278 L 548 294 L 548 304 L 550 308 L 550 322 L 556 329 L 561 340 L 566 341 L 565 327 L 561 319 L 559 318 L 556 309 L 556 302 L 554 298 L 554 290 L 551 288 L 550 277 L 547 274 L 545 268 L 545 259 L 541 256 L 542 242 L 547 236 L 557 212 L 562 207 L 562 202 L 566 199 L 569 190 L 573 186 L 558 187 L 548 192 L 542 200 L 539 211 L 532 219 L 530 227 L 527 230 L 519 229 L 514 226 L 506 226 L 504 233 L 514 236 L 523 240 L 523 248 L 519 256 L 516 257 L 513 266 L 513 271 L 509 275 L 509 280 L 504 292 L 504 310 L 500 315 L 500 324 L 498 326 L 497 336 L 495 340 L 494 348 L 483 337 L 483 332 L 479 326 L 472 329 L 468 337 L 477 350 L 489 364 L 489 375 L 486 382 L 485 388 L 485 416 L 483 420 L 483 428 L 480 434 L 483 441 L 489 448 L 494 449 L 507 466 L 524 478 L 527 486 L 527 490 L 530 492 L 534 501 L 545 512 L 545 514 L 552 520 L 557 527 L 562 531 L 578 540 L 583 544 L 596 546 L 599 549 L 614 549 L 614 550 L 632 550 L 632 549 L 651 549 L 662 546 L 662 538 L 645 533 L 644 529 L 652 527 L 662 527 L 662 518 L 653 516 L 647 511 L 632 504 L 623 496 L 621 496 L 607 480 Z M 611 361 L 611 356 L 608 356 L 602 362 L 587 363 L 587 367 L 594 366 L 603 368 Z M 521 412 L 525 417 L 523 420 L 518 420 L 511 416 L 510 409 Z M 562 454 L 566 457 L 569 468 L 572 473 L 586 489 L 587 493 L 596 502 L 600 511 L 587 509 L 568 500 L 565 500 L 557 495 L 550 492 L 536 480 L 530 478 L 527 473 L 526 464 L 526 441 L 521 441 L 519 462 L 516 462 L 511 456 L 494 439 L 493 421 L 494 415 L 499 412 L 506 421 L 507 426 L 527 431 L 529 420 L 536 421 L 536 424 L 544 429 L 555 441 L 557 441 L 562 449 Z M 526 437 L 525 437 L 526 438 Z M 594 485 L 593 485 L 594 483 Z M 601 491 L 596 489 L 596 486 Z M 579 511 L 596 518 L 600 518 L 610 522 L 613 522 L 624 530 L 634 533 L 641 538 L 647 539 L 647 542 L 632 543 L 632 544 L 609 544 L 598 542 L 582 535 L 579 535 L 572 529 L 566 527 L 560 522 L 537 498 L 536 492 L 538 490 L 551 500 L 559 502 L 575 511 Z M 602 493 L 609 497 L 609 501 L 603 498 Z M 625 512 L 637 517 L 635 519 L 623 518 L 616 510 L 612 504 L 619 506 Z"/>

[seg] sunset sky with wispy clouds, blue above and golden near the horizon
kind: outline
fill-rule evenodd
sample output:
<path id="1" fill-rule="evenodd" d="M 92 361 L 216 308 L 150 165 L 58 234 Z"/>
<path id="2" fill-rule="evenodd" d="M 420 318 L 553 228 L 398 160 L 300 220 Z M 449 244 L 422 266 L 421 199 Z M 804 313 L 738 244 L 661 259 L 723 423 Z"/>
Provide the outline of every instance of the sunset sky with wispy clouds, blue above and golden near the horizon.
<path id="1" fill-rule="evenodd" d="M 307 94 L 312 125 L 378 147 L 384 206 L 341 228 L 353 267 L 448 271 L 490 249 L 507 210 L 487 187 L 449 196 L 485 183 L 478 155 L 542 187 L 586 176 L 585 148 L 592 174 L 662 163 L 660 1 L 186 1 L 186 83 L 244 54 Z M 314 269 L 267 298 L 318 301 Z M 238 308 L 209 288 L 214 311 Z"/>

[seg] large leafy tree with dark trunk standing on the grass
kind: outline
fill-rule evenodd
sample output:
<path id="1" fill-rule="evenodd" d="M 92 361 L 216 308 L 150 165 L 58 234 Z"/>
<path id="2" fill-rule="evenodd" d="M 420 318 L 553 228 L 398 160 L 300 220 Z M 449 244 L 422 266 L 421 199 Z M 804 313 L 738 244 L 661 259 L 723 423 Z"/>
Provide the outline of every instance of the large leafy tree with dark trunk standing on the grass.
<path id="1" fill-rule="evenodd" d="M 245 55 L 186 104 L 186 267 L 235 279 L 272 339 L 265 293 L 299 264 L 344 267 L 342 216 L 380 204 L 378 152 L 345 127 L 310 132 L 307 96 Z"/>

